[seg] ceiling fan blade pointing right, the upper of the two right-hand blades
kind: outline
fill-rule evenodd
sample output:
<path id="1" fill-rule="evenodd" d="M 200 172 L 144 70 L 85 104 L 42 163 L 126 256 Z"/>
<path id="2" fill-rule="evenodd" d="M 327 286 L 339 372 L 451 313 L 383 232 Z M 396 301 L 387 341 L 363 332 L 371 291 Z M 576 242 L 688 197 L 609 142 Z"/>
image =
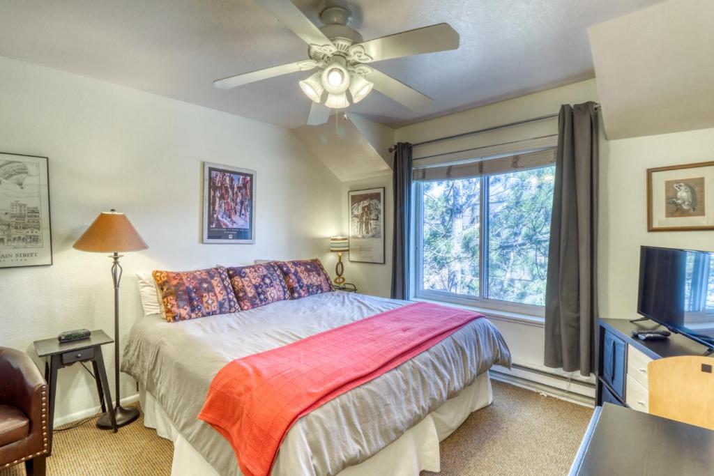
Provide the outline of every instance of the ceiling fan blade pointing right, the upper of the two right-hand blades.
<path id="1" fill-rule="evenodd" d="M 458 48 L 459 36 L 448 23 L 440 23 L 416 30 L 364 41 L 351 46 L 350 59 L 361 63 L 400 58 L 415 54 L 436 53 Z"/>

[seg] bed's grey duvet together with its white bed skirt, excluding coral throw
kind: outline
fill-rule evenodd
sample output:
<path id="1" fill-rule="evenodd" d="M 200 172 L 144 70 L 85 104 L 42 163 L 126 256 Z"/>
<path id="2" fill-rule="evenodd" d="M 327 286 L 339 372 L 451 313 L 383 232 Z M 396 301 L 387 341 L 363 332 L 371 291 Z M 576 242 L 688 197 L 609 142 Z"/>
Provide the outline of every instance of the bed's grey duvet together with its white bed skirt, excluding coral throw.
<path id="1" fill-rule="evenodd" d="M 240 313 L 137 321 L 121 370 L 140 385 L 144 421 L 174 441 L 172 476 L 241 475 L 231 445 L 198 420 L 211 380 L 236 358 L 408 305 L 334 291 Z M 272 475 L 418 475 L 439 470 L 438 442 L 491 403 L 488 368 L 510 365 L 498 330 L 473 320 L 432 348 L 301 417 Z"/>

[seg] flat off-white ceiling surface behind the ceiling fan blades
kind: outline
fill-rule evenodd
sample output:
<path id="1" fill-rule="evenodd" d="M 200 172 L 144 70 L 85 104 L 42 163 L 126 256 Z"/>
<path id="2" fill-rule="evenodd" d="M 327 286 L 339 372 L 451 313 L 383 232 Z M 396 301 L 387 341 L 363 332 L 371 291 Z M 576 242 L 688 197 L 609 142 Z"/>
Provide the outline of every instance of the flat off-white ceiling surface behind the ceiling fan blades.
<path id="1" fill-rule="evenodd" d="M 352 106 L 392 127 L 593 76 L 587 27 L 660 0 L 295 0 L 313 21 L 353 11 L 365 39 L 446 21 L 456 51 L 375 64 L 434 98 L 413 113 L 374 91 Z M 216 90 L 211 81 L 306 58 L 253 0 L 5 1 L 0 55 L 291 128 L 305 123 L 305 73 Z"/>

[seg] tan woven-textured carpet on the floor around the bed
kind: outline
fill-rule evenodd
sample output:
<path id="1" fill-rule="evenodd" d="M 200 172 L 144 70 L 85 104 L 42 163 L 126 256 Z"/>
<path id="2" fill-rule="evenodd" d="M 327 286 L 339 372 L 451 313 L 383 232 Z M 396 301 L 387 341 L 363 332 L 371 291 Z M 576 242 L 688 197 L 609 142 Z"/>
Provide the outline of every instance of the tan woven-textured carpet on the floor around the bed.
<path id="1" fill-rule="evenodd" d="M 593 410 L 493 382 L 493 405 L 474 412 L 441 443 L 439 475 L 565 475 Z M 56 432 L 49 476 L 169 475 L 171 442 L 143 419 L 119 433 L 94 420 Z M 24 476 L 24 465 L 0 476 Z M 436 473 L 423 472 L 423 476 Z"/>

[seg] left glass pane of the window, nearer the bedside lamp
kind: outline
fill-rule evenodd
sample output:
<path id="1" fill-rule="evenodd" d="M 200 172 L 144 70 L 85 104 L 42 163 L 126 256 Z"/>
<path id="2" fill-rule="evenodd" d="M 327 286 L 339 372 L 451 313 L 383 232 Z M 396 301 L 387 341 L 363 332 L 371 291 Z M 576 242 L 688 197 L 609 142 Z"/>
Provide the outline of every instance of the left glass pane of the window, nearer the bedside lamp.
<path id="1" fill-rule="evenodd" d="M 423 289 L 478 296 L 478 178 L 422 186 Z"/>

